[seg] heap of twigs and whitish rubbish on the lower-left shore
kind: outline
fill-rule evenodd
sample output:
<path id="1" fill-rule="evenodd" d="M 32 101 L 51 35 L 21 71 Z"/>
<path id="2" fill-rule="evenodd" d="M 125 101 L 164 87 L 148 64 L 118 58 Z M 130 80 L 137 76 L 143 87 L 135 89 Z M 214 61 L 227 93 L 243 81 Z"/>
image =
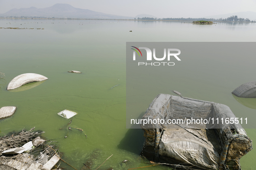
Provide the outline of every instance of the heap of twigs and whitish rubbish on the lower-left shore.
<path id="1" fill-rule="evenodd" d="M 0 170 L 51 170 L 58 163 L 56 146 L 40 138 L 44 132 L 33 130 L 0 138 Z"/>

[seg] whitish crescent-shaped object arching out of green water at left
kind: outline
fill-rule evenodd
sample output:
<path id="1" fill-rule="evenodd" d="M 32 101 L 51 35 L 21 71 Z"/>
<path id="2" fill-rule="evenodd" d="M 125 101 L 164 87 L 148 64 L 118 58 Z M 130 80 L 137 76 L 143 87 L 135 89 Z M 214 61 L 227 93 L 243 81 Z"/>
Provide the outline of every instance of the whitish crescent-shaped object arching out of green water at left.
<path id="1" fill-rule="evenodd" d="M 40 82 L 47 79 L 47 77 L 35 73 L 21 74 L 19 76 L 14 77 L 12 81 L 10 81 L 10 83 L 7 86 L 7 90 L 18 88 L 30 82 Z"/>

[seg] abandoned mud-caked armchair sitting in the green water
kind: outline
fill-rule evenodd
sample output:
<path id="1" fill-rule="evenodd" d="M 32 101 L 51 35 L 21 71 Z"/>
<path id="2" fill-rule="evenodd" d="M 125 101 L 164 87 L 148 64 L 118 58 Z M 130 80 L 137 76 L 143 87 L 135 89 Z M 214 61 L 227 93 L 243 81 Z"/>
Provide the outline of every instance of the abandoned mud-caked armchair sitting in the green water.
<path id="1" fill-rule="evenodd" d="M 243 127 L 239 123 L 217 123 L 217 120 L 186 122 L 191 113 L 194 120 L 207 120 L 209 113 L 214 119 L 236 117 L 224 104 L 158 94 L 142 117 L 148 120 L 140 126 L 145 136 L 142 156 L 149 160 L 164 157 L 163 163 L 174 168 L 224 170 L 232 166 L 233 170 L 240 170 L 240 158 L 253 149 L 253 142 Z M 166 123 L 150 123 L 156 117 L 164 117 Z M 175 122 L 168 123 L 169 117 Z"/>

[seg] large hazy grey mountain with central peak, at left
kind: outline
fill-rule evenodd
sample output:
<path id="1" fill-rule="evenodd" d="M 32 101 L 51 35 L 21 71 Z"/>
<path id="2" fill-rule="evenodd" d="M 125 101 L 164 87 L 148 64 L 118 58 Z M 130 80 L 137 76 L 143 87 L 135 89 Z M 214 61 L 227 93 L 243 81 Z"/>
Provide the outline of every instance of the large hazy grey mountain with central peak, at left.
<path id="1" fill-rule="evenodd" d="M 38 9 L 36 7 L 11 9 L 0 16 L 26 16 L 48 18 L 79 18 L 79 19 L 134 19 L 129 16 L 117 16 L 91 11 L 89 9 L 75 8 L 69 4 L 57 3 L 51 7 Z"/>

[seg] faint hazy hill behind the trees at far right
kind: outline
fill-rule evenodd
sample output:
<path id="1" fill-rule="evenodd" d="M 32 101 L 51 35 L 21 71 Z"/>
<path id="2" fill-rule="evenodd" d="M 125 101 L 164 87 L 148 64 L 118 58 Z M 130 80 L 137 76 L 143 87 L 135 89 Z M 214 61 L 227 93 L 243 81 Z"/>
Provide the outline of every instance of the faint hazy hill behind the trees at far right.
<path id="1" fill-rule="evenodd" d="M 219 18 L 227 18 L 230 16 L 237 16 L 238 18 L 249 18 L 251 21 L 256 20 L 256 13 L 252 11 L 247 11 L 247 12 L 239 12 L 239 13 L 228 13 L 228 14 L 222 14 L 222 15 L 216 15 L 216 16 L 205 16 L 204 18 L 214 18 L 214 19 L 219 19 Z"/>

